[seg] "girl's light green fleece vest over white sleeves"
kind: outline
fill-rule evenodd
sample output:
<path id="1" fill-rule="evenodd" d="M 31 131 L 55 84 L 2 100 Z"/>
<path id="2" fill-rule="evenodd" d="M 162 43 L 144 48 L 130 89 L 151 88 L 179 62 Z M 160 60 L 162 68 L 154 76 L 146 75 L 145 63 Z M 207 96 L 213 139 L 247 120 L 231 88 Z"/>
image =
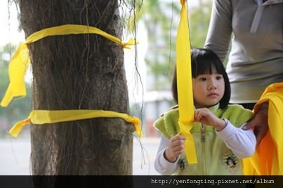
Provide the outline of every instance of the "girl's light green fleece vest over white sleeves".
<path id="1" fill-rule="evenodd" d="M 251 119 L 253 113 L 240 105 L 228 105 L 220 109 L 219 105 L 209 108 L 221 119 L 228 119 L 234 126 L 242 126 Z M 179 132 L 179 110 L 171 109 L 154 122 L 165 137 L 170 138 Z M 243 175 L 242 160 L 225 146 L 223 140 L 216 135 L 213 126 L 194 123 L 190 130 L 195 140 L 197 164 L 188 164 L 185 154 L 181 154 L 175 175 Z"/>

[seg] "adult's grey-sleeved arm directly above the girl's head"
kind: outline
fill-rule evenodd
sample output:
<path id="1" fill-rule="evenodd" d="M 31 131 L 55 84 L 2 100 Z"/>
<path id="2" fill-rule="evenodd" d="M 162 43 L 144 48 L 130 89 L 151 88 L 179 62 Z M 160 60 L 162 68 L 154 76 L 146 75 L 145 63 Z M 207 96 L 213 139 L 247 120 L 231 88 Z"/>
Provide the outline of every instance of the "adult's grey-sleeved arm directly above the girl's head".
<path id="1" fill-rule="evenodd" d="M 213 0 L 209 31 L 204 48 L 214 51 L 223 62 L 229 50 L 231 35 L 231 0 Z"/>

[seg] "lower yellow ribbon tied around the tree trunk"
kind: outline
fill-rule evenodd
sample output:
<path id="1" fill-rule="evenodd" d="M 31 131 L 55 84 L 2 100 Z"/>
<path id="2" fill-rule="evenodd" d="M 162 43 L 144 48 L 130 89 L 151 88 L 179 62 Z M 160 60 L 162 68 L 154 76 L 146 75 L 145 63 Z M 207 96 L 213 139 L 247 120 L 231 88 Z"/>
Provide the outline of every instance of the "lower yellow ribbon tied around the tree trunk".
<path id="1" fill-rule="evenodd" d="M 18 137 L 18 134 L 22 128 L 29 123 L 35 125 L 42 125 L 45 123 L 58 123 L 65 121 L 77 121 L 82 119 L 92 119 L 99 117 L 121 118 L 125 121 L 132 123 L 136 128 L 136 133 L 142 136 L 140 129 L 140 120 L 135 116 L 129 116 L 128 114 L 105 111 L 105 110 L 91 110 L 91 109 L 70 109 L 70 110 L 33 110 L 30 112 L 27 119 L 18 121 L 13 128 L 9 131 L 13 137 Z"/>

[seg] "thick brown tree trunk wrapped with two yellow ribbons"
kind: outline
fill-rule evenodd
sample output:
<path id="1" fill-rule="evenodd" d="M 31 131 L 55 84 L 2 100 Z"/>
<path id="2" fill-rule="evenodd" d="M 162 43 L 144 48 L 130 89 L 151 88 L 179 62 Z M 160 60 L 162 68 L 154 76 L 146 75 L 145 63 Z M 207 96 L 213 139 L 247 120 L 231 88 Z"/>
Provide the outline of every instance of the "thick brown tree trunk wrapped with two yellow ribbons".
<path id="1" fill-rule="evenodd" d="M 117 0 L 19 1 L 26 36 L 65 24 L 121 39 Z M 96 34 L 49 36 L 28 45 L 33 109 L 104 109 L 129 114 L 124 52 Z M 133 126 L 97 118 L 32 125 L 33 175 L 131 175 Z"/>

